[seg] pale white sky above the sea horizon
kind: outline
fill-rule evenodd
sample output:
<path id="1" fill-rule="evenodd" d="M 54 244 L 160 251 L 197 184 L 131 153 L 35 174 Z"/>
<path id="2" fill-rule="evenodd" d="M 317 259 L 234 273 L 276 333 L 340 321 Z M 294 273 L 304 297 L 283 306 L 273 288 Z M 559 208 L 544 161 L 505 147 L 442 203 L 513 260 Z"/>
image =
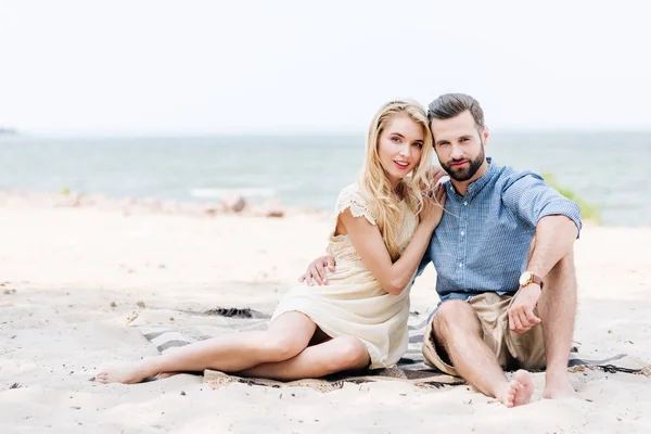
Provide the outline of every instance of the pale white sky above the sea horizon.
<path id="1" fill-rule="evenodd" d="M 646 1 L 0 0 L 0 127 L 363 133 L 465 92 L 490 128 L 651 130 Z"/>

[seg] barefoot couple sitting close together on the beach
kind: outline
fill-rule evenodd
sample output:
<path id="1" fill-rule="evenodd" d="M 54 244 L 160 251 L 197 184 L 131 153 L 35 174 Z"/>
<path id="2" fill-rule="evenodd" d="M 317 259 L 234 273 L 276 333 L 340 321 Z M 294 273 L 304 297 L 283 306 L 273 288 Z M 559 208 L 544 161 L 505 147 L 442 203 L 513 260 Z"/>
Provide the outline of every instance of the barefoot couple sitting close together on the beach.
<path id="1" fill-rule="evenodd" d="M 432 261 L 441 304 L 423 343 L 430 366 L 507 407 L 529 400 L 526 369 L 546 367 L 544 397 L 572 395 L 579 209 L 538 175 L 486 157 L 487 139 L 483 111 L 465 94 L 444 94 L 426 114 L 411 102 L 384 105 L 358 182 L 339 195 L 329 255 L 282 298 L 267 331 L 104 369 L 98 381 L 204 369 L 296 380 L 391 367 L 407 349 L 411 283 Z M 519 370 L 508 380 L 503 369 Z"/>

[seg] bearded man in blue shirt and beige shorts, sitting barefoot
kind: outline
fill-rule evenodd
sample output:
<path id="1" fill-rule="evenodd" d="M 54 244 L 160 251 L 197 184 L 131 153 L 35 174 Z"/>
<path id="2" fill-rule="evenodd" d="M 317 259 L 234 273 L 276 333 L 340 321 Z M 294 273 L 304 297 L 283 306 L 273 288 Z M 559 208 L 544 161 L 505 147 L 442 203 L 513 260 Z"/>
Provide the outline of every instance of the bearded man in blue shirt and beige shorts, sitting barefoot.
<path id="1" fill-rule="evenodd" d="M 488 129 L 476 100 L 444 94 L 429 106 L 434 149 L 449 175 L 446 213 L 419 275 L 434 263 L 441 304 L 425 331 L 429 365 L 507 407 L 528 403 L 525 369 L 546 367 L 545 398 L 574 394 L 567 360 L 576 315 L 573 245 L 578 206 L 531 171 L 485 157 Z M 301 280 L 322 282 L 315 260 Z M 520 369 L 508 381 L 503 369 Z"/>

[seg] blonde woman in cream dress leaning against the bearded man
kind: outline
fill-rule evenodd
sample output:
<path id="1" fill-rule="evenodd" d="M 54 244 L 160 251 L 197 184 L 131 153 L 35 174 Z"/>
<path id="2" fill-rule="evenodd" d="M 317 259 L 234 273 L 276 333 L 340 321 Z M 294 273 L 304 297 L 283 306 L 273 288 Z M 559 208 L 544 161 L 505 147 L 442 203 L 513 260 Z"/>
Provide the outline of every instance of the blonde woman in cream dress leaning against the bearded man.
<path id="1" fill-rule="evenodd" d="M 359 181 L 337 199 L 328 245 L 337 268 L 328 285 L 290 291 L 267 331 L 220 335 L 114 366 L 97 381 L 130 384 L 208 368 L 289 381 L 396 363 L 408 344 L 410 283 L 445 203 L 441 188 L 436 204 L 423 194 L 432 152 L 420 105 L 384 105 L 369 129 Z"/>

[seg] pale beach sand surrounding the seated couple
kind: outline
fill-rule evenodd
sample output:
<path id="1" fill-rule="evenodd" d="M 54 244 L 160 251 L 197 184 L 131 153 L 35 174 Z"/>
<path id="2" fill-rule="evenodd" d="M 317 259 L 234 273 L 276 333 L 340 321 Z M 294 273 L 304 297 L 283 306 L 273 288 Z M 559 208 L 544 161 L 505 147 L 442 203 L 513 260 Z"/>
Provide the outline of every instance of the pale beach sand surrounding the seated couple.
<path id="1" fill-rule="evenodd" d="M 311 388 L 181 374 L 139 385 L 89 381 L 97 367 L 156 354 L 129 320 L 158 311 L 252 307 L 271 312 L 323 253 L 330 218 L 127 213 L 119 207 L 0 201 L 0 433 L 649 433 L 651 379 L 586 370 L 578 397 L 507 409 L 468 386 L 401 382 Z M 651 361 L 651 228 L 587 225 L 576 244 L 575 341 L 595 358 Z M 430 267 L 412 309 L 436 305 Z"/>

